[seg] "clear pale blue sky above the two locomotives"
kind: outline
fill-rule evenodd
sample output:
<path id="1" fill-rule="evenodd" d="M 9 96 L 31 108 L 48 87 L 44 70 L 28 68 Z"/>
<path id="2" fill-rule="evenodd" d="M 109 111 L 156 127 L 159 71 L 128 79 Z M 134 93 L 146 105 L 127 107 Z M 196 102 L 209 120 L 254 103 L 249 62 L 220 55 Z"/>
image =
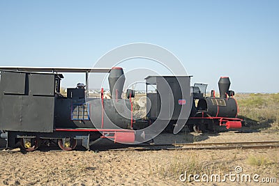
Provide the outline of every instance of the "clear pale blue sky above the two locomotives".
<path id="1" fill-rule="evenodd" d="M 175 54 L 193 83 L 218 89 L 226 75 L 236 92 L 278 93 L 278 10 L 256 0 L 0 1 L 0 65 L 91 67 L 148 42 Z M 82 81 L 66 77 L 64 86 Z"/>

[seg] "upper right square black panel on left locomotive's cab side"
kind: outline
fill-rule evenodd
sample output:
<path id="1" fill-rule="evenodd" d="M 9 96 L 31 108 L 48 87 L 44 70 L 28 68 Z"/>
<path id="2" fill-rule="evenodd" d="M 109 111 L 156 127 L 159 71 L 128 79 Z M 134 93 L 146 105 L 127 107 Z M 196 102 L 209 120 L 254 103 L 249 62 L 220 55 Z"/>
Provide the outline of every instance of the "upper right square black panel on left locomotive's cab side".
<path id="1" fill-rule="evenodd" d="M 54 95 L 54 75 L 35 74 L 29 75 L 29 93 L 33 95 Z"/>

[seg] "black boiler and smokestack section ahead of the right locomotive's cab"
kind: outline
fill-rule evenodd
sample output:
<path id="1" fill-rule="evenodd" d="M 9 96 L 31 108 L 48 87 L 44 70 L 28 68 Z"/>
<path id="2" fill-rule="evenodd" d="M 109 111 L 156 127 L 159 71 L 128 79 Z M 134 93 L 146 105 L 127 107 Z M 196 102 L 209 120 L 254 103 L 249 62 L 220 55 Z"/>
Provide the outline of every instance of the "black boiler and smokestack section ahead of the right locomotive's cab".
<path id="1" fill-rule="evenodd" d="M 215 91 L 206 97 L 206 84 L 193 86 L 193 107 L 186 125 L 195 132 L 214 130 L 216 125 L 229 128 L 240 128 L 242 119 L 236 118 L 238 114 L 234 91 L 229 91 L 229 77 L 220 77 L 218 82 L 220 97 Z"/>

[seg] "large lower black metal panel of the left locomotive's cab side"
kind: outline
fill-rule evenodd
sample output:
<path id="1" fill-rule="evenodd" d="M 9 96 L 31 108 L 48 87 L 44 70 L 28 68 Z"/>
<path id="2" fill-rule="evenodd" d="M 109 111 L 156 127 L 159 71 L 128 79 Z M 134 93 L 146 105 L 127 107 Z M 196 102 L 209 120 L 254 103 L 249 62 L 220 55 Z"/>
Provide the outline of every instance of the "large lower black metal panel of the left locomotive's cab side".
<path id="1" fill-rule="evenodd" d="M 0 107 L 1 130 L 23 132 L 53 130 L 54 97 L 4 95 Z"/>

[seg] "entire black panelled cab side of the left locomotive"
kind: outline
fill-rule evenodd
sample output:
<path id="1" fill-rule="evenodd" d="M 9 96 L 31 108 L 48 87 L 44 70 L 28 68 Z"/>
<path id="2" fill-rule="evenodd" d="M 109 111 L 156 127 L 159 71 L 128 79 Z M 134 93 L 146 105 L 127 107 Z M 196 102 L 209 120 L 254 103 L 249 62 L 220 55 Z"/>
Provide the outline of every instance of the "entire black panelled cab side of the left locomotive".
<path id="1" fill-rule="evenodd" d="M 13 86 L 20 88 L 22 88 L 22 79 L 24 79 L 25 86 L 22 88 L 24 95 L 3 93 L 6 86 L 10 86 L 5 82 L 8 78 L 13 79 L 13 82 L 11 82 Z M 0 130 L 53 132 L 54 84 L 54 75 L 52 74 L 36 74 L 34 77 L 29 72 L 2 73 L 0 83 Z M 47 87 L 44 88 L 43 86 Z M 40 88 L 43 88 L 43 91 L 40 91 Z M 35 91 L 31 91 L 31 89 Z"/>

